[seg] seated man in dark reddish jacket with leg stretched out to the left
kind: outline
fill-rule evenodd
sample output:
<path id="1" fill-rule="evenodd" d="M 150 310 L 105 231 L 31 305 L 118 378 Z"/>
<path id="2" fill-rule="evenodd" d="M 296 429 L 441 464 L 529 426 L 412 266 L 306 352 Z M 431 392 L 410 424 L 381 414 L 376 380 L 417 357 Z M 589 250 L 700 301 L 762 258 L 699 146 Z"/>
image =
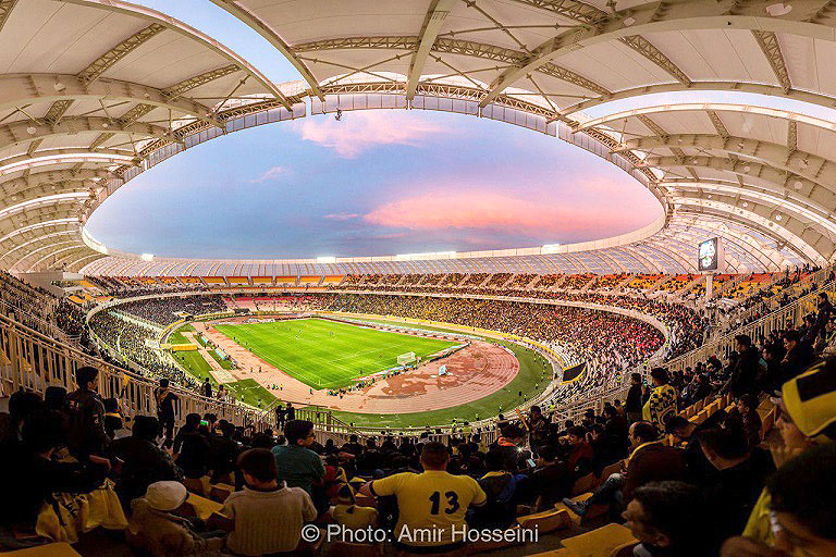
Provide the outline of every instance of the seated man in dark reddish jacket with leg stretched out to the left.
<path id="1" fill-rule="evenodd" d="M 582 502 L 566 498 L 564 505 L 579 517 L 586 516 L 591 505 L 607 505 L 612 515 L 616 510 L 620 513 L 638 487 L 650 482 L 686 480 L 685 451 L 663 445 L 650 422 L 630 425 L 630 444 L 632 453 L 624 473 L 610 475 L 590 498 Z"/>

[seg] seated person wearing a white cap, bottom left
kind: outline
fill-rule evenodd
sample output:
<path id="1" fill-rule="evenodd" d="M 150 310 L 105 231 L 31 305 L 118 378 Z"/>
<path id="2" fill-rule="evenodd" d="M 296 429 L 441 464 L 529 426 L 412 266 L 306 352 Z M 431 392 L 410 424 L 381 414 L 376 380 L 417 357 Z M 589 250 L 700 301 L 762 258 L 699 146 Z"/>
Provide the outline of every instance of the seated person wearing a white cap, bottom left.
<path id="1" fill-rule="evenodd" d="M 223 532 L 201 535 L 187 519 L 174 515 L 186 498 L 188 492 L 180 482 L 148 485 L 145 495 L 131 504 L 131 522 L 125 533 L 127 542 L 152 557 L 214 554 L 223 545 Z"/>

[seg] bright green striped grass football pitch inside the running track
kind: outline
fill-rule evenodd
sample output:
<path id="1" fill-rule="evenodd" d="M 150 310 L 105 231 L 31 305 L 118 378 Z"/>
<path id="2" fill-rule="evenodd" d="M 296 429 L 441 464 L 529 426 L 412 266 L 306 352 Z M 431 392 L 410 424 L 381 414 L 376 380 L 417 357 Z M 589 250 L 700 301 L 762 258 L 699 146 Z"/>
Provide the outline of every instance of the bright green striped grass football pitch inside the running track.
<path id="1" fill-rule="evenodd" d="M 427 357 L 457 343 L 389 333 L 324 319 L 217 325 L 271 366 L 314 388 L 342 388 L 397 366 L 406 352 Z"/>

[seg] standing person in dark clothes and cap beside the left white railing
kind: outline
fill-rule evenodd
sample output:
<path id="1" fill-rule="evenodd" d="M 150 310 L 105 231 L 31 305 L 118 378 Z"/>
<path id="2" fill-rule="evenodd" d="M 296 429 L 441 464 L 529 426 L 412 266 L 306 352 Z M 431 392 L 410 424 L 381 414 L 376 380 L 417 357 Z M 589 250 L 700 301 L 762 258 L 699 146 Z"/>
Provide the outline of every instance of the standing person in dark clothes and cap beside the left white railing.
<path id="1" fill-rule="evenodd" d="M 96 461 L 104 455 L 110 437 L 104 430 L 104 405 L 96 393 L 99 370 L 84 367 L 75 370 L 78 388 L 66 396 L 70 449 L 81 460 Z"/>

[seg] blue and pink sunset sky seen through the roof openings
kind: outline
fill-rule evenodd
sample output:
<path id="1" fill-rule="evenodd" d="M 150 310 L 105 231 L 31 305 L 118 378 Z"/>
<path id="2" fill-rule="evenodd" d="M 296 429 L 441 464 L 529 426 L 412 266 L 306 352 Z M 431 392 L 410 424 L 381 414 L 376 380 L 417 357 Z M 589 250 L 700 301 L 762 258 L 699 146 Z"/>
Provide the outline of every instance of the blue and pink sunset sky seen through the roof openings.
<path id="1" fill-rule="evenodd" d="M 137 3 L 220 40 L 274 83 L 299 78 L 278 50 L 208 0 Z M 656 95 L 590 114 L 751 97 Z M 160 257 L 308 258 L 585 242 L 661 214 L 634 178 L 555 137 L 488 119 L 381 110 L 268 124 L 193 147 L 130 181 L 87 228 L 108 246 Z"/>

